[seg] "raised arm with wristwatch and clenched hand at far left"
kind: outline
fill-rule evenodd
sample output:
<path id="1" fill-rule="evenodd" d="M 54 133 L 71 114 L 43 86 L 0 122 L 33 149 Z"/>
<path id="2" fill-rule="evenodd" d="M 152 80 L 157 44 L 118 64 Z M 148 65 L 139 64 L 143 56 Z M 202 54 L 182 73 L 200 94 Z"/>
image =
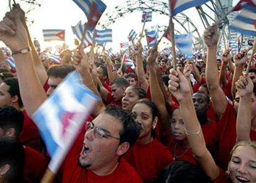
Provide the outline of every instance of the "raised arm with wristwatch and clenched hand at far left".
<path id="1" fill-rule="evenodd" d="M 20 12 L 15 7 L 9 12 L 9 16 L 0 22 L 0 40 L 12 50 L 12 53 L 29 47 L 28 35 L 19 17 Z M 20 95 L 28 115 L 32 116 L 46 100 L 46 93 L 36 75 L 31 52 L 14 54 L 14 59 Z"/>

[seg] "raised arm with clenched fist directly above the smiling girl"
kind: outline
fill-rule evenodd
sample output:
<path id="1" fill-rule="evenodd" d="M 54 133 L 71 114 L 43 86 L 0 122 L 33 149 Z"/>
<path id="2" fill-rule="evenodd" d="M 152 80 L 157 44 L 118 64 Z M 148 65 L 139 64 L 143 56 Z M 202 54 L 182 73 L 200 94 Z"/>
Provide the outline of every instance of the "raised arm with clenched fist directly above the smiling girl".
<path id="1" fill-rule="evenodd" d="M 236 89 L 240 95 L 240 101 L 236 118 L 237 142 L 250 140 L 250 126 L 252 113 L 252 93 L 254 84 L 249 76 L 241 76 L 236 82 Z"/>

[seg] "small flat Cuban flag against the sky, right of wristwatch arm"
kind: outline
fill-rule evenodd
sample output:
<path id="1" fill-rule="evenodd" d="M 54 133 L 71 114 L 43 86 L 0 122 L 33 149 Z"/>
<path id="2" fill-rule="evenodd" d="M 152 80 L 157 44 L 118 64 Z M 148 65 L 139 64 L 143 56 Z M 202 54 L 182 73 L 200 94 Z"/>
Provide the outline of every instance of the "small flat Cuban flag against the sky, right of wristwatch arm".
<path id="1" fill-rule="evenodd" d="M 63 29 L 43 29 L 43 38 L 45 41 L 64 41 L 65 40 L 65 30 Z"/>

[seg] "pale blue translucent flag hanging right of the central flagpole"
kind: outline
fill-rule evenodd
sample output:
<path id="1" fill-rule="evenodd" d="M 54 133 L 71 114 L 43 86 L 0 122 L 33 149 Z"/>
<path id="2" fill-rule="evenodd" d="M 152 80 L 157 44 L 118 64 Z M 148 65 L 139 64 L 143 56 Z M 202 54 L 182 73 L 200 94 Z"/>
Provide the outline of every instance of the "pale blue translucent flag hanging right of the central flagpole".
<path id="1" fill-rule="evenodd" d="M 192 33 L 174 35 L 177 48 L 189 59 L 193 56 Z"/>

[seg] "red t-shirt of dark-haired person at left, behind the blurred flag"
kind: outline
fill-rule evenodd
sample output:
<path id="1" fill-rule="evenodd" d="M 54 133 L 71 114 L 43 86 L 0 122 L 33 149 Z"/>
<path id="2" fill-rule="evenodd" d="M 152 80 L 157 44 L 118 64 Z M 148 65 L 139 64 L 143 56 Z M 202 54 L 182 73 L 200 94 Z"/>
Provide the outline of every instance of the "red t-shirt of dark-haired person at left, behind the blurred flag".
<path id="1" fill-rule="evenodd" d="M 24 115 L 24 121 L 22 130 L 20 132 L 20 142 L 23 145 L 41 151 L 42 147 L 38 128 L 32 119 L 28 117 L 28 114 L 25 110 L 23 110 L 22 113 Z"/>

